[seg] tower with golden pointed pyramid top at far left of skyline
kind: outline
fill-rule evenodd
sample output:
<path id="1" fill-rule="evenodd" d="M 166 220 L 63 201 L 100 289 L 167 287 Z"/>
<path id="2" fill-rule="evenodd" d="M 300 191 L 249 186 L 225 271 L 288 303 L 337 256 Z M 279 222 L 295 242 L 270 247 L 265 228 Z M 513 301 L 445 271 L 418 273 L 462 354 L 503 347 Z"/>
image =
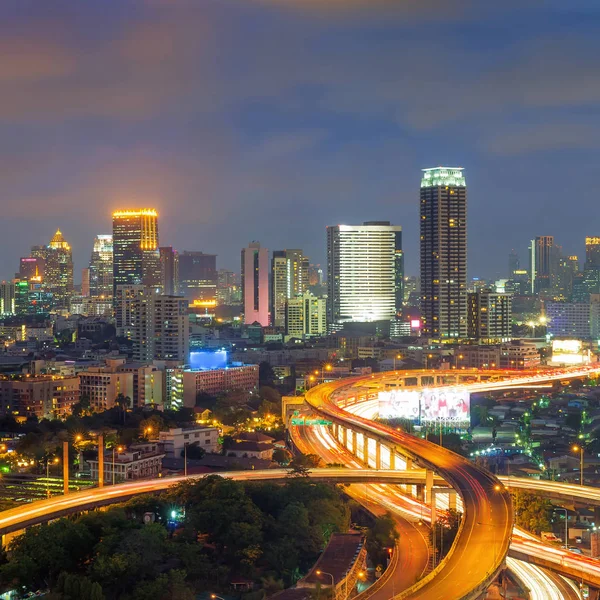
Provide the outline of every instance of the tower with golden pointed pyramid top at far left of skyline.
<path id="1" fill-rule="evenodd" d="M 73 254 L 60 229 L 41 252 L 44 259 L 43 290 L 52 294 L 54 308 L 69 308 L 73 294 Z"/>

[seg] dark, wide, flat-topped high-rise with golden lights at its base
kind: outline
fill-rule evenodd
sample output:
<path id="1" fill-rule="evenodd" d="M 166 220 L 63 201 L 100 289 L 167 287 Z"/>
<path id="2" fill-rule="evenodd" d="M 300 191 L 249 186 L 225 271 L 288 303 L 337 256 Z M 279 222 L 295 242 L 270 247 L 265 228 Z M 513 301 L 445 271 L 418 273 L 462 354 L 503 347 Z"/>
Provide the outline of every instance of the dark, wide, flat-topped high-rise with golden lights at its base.
<path id="1" fill-rule="evenodd" d="M 190 303 L 216 305 L 217 255 L 185 250 L 179 255 L 179 293 Z"/>

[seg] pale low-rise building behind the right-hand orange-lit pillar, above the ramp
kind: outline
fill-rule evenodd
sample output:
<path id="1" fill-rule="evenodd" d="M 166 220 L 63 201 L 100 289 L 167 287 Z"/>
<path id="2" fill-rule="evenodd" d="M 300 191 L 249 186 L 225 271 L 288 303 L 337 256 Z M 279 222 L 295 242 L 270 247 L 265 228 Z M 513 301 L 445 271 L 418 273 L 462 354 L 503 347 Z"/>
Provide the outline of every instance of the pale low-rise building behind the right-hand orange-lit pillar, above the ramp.
<path id="1" fill-rule="evenodd" d="M 123 452 L 104 453 L 104 481 L 119 483 L 131 479 L 152 479 L 158 477 L 162 469 L 162 459 L 165 453 L 156 442 L 134 444 Z M 114 460 L 113 460 L 114 458 Z M 98 460 L 88 460 L 90 476 L 98 479 Z"/>

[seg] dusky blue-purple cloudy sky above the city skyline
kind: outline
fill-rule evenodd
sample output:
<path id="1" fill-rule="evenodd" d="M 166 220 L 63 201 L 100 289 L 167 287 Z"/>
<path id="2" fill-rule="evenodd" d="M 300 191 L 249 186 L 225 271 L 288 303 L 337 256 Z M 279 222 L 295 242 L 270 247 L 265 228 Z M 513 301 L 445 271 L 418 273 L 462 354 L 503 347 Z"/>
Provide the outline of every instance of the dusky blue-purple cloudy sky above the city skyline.
<path id="1" fill-rule="evenodd" d="M 136 207 L 232 270 L 389 220 L 417 274 L 437 165 L 465 169 L 471 276 L 600 235 L 597 0 L 3 0 L 0 55 L 1 278 L 57 228 L 85 267 Z"/>

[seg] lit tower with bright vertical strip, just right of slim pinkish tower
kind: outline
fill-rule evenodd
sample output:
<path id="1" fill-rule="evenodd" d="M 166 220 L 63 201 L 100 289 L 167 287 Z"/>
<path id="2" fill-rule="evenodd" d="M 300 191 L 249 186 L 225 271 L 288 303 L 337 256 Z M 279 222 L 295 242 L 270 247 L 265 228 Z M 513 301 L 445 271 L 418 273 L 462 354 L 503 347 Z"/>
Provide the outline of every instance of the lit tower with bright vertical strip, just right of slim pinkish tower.
<path id="1" fill-rule="evenodd" d="M 309 261 L 302 250 L 275 250 L 271 259 L 271 318 L 285 326 L 285 306 L 308 289 Z"/>

